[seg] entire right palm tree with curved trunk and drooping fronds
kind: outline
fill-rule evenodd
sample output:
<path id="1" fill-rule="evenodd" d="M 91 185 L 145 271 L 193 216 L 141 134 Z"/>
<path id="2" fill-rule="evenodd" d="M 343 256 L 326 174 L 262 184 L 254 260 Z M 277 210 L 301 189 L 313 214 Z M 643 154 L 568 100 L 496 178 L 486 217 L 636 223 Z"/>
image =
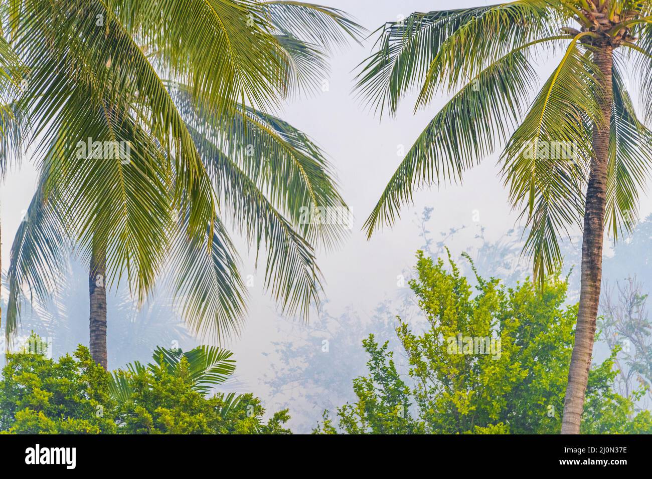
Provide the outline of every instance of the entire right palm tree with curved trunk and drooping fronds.
<path id="1" fill-rule="evenodd" d="M 516 0 L 415 13 L 379 29 L 357 85 L 381 114 L 395 113 L 415 86 L 417 108 L 436 93 L 456 92 L 402 160 L 366 222 L 368 235 L 394 222 L 414 188 L 461 181 L 498 145 L 512 207 L 527 220 L 524 253 L 533 258 L 535 278 L 559 267 L 559 235 L 583 227 L 562 433 L 580 431 L 604 230 L 617 237 L 632 228 L 649 173 L 652 133 L 624 79 L 638 74 L 649 118 L 651 23 L 649 0 Z M 556 53 L 559 65 L 532 96 L 539 84 L 533 60 Z"/>

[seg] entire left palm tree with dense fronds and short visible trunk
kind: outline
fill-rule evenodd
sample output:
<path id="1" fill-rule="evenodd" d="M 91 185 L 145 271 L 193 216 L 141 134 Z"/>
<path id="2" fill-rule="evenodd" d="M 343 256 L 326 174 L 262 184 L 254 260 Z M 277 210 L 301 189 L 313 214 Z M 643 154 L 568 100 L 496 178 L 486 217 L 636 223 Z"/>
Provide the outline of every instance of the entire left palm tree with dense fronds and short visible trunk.
<path id="1" fill-rule="evenodd" d="M 7 334 L 23 285 L 46 297 L 73 247 L 89 264 L 91 353 L 105 368 L 106 288 L 125 278 L 142 304 L 172 267 L 194 331 L 217 341 L 236 332 L 246 292 L 222 204 L 250 244 L 267 246 L 265 284 L 284 311 L 307 317 L 321 278 L 314 247 L 344 228 L 303 224 L 301 208 L 346 205 L 321 151 L 262 111 L 321 83 L 325 53 L 359 26 L 295 1 L 5 4 L 40 158 L 12 246 Z M 80 155 L 87 139 L 128 145 L 128 158 Z"/>

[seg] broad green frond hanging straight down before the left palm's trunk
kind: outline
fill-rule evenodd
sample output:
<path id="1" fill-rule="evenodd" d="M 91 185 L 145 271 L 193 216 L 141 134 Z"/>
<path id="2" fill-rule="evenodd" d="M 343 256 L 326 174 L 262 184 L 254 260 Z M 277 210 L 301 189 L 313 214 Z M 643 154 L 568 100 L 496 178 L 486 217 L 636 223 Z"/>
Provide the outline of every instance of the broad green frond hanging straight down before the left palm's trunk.
<path id="1" fill-rule="evenodd" d="M 89 261 L 94 244 L 104 245 L 107 285 L 117 287 L 126 274 L 141 304 L 155 285 L 172 228 L 167 162 L 124 112 L 106 104 L 80 108 L 88 96 L 78 89 L 60 111 L 59 134 L 46 156 L 48 184 L 58 188 L 68 234 L 83 259 Z"/>

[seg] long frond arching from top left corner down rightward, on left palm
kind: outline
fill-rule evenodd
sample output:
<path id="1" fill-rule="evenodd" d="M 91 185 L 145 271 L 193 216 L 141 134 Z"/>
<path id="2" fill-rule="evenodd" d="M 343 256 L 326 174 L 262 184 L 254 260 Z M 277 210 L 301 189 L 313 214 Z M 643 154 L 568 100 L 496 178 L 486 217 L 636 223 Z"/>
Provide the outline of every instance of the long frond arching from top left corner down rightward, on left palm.
<path id="1" fill-rule="evenodd" d="M 205 234 L 215 204 L 201 158 L 155 69 L 111 10 L 100 0 L 26 0 L 16 22 L 14 50 L 30 68 L 24 106 L 41 150 L 57 138 L 59 114 L 80 89 L 94 93 L 76 104 L 80 116 L 106 107 L 147 119 L 175 173 L 175 204 L 190 209 L 190 235 Z"/>

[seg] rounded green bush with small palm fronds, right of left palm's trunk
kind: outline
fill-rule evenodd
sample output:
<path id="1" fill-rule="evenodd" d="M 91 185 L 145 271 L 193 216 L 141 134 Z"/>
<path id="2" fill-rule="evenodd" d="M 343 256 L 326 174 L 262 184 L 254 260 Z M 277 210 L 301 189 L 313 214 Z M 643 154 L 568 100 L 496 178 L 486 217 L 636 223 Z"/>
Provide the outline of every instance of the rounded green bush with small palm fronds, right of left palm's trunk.
<path id="1" fill-rule="evenodd" d="M 288 411 L 262 422 L 265 409 L 251 394 L 215 394 L 235 370 L 230 351 L 198 347 L 187 353 L 158 348 L 154 362 L 136 362 L 113 375 L 111 395 L 117 399 L 120 432 L 128 434 L 278 434 Z"/>

